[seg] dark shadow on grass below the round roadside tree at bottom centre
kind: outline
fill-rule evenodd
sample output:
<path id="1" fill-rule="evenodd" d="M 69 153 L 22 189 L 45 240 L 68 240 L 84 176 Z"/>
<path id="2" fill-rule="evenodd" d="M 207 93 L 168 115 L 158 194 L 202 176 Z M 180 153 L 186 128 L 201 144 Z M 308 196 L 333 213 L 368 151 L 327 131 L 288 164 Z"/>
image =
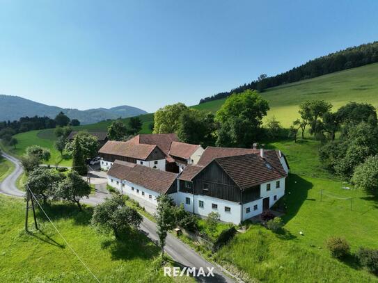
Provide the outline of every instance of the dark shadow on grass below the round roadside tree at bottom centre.
<path id="1" fill-rule="evenodd" d="M 125 261 L 134 258 L 152 259 L 160 252 L 150 238 L 136 229 L 121 234 L 119 238 L 102 241 L 101 248 L 109 250 L 112 260 Z"/>

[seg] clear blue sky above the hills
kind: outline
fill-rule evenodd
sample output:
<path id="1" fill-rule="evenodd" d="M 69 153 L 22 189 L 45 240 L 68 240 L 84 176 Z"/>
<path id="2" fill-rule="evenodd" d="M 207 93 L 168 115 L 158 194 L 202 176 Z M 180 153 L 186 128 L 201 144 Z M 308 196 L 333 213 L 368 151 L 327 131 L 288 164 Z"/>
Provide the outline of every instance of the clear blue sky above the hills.
<path id="1" fill-rule="evenodd" d="M 0 0 L 0 93 L 145 111 L 378 40 L 378 1 Z"/>

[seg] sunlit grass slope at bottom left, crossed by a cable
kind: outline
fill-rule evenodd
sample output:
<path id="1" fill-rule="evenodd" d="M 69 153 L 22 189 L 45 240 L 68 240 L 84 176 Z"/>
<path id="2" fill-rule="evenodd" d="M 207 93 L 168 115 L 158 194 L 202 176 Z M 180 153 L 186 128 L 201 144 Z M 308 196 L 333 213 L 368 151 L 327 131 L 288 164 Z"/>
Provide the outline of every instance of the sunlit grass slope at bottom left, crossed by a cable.
<path id="1" fill-rule="evenodd" d="M 38 214 L 41 232 L 24 232 L 24 201 L 0 195 L 0 282 L 95 282 L 50 223 Z M 45 208 L 68 243 L 100 282 L 173 282 L 157 266 L 159 248 L 136 232 L 116 241 L 90 227 L 93 209 Z M 174 282 L 193 282 L 178 277 Z"/>

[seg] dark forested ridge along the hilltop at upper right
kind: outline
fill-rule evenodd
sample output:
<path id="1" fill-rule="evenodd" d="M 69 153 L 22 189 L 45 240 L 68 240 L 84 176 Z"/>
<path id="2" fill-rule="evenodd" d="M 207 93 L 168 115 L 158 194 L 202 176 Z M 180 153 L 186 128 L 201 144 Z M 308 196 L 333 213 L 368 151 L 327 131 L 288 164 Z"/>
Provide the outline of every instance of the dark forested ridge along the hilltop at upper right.
<path id="1" fill-rule="evenodd" d="M 216 95 L 200 99 L 200 104 L 216 99 L 228 97 L 233 93 L 240 93 L 247 89 L 263 91 L 265 88 L 273 88 L 281 86 L 285 83 L 294 83 L 303 79 L 315 78 L 324 74 L 330 74 L 342 70 L 360 67 L 371 63 L 378 63 L 378 41 L 359 45 L 357 47 L 349 47 L 342 51 L 337 51 L 320 58 L 308 61 L 304 65 L 294 67 L 288 72 L 278 74 L 276 76 L 266 77 L 261 75 L 257 80 L 251 83 L 244 83 L 228 92 L 219 92 Z"/>

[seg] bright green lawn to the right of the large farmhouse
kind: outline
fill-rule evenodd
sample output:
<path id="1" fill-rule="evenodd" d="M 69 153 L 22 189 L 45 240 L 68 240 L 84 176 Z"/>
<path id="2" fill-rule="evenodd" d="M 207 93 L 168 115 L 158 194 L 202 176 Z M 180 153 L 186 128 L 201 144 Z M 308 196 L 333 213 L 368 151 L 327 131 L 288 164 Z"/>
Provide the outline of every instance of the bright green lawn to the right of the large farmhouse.
<path id="1" fill-rule="evenodd" d="M 326 172 L 317 158 L 320 143 L 283 140 L 267 145 L 281 149 L 290 163 L 283 216 L 285 235 L 253 225 L 222 248 L 216 258 L 228 261 L 264 282 L 378 282 L 356 264 L 332 259 L 324 242 L 342 236 L 352 252 L 359 247 L 378 248 L 378 197 L 352 188 Z M 342 187 L 349 186 L 345 190 Z M 322 201 L 320 193 L 324 192 Z M 327 195 L 352 197 L 338 200 Z M 303 232 L 301 236 L 299 232 Z"/>

